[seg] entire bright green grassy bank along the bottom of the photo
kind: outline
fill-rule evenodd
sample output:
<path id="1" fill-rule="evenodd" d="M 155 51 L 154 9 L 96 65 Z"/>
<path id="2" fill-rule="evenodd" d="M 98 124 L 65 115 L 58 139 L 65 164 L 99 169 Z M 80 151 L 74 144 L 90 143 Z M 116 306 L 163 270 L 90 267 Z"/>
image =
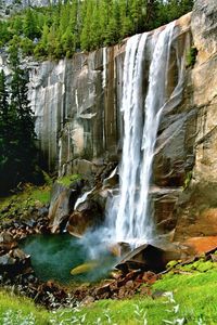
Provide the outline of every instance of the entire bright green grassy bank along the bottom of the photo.
<path id="1" fill-rule="evenodd" d="M 0 292 L 0 324 L 217 324 L 217 270 L 193 274 L 168 274 L 129 300 L 101 300 L 56 313 L 33 302 Z M 7 317 L 13 321 L 5 321 Z"/>

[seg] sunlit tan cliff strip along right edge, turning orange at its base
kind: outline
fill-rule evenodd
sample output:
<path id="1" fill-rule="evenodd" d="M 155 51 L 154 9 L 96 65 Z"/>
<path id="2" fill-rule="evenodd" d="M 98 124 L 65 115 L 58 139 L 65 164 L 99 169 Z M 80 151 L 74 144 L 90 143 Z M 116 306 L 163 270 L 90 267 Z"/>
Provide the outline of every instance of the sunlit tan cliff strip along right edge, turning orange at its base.
<path id="1" fill-rule="evenodd" d="M 175 238 L 217 234 L 217 3 L 197 0 L 191 20 L 196 64 L 189 73 L 187 105 L 196 112 L 195 162 L 190 186 L 180 196 Z"/>

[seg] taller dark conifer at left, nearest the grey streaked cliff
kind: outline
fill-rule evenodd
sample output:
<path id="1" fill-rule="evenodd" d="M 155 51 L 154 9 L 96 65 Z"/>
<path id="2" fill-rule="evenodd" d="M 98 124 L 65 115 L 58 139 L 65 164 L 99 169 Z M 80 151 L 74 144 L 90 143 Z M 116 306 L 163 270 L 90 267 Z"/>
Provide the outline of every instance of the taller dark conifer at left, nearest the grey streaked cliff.
<path id="1" fill-rule="evenodd" d="M 10 48 L 10 63 L 12 65 L 11 103 L 10 110 L 15 112 L 15 130 L 13 151 L 16 162 L 14 183 L 29 180 L 36 162 L 34 114 L 28 101 L 28 74 L 21 68 L 18 51 Z"/>

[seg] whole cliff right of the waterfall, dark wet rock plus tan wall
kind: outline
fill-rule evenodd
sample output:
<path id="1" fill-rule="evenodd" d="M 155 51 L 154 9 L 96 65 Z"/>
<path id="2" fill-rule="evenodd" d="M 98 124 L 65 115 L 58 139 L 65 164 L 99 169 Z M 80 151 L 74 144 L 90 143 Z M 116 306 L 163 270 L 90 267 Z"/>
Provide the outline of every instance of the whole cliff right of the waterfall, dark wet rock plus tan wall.
<path id="1" fill-rule="evenodd" d="M 153 191 L 153 205 L 158 230 L 170 229 L 176 240 L 217 234 L 216 16 L 216 1 L 195 1 L 195 65 L 187 69 L 182 103 L 159 127 L 154 180 L 161 190 Z"/>

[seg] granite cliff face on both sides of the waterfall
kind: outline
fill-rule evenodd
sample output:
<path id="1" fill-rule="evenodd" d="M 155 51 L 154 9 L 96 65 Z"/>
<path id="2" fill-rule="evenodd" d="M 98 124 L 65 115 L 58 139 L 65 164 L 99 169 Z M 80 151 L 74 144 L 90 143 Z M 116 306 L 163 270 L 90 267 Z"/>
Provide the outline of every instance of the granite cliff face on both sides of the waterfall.
<path id="1" fill-rule="evenodd" d="M 195 47 L 197 55 L 186 64 L 178 106 L 163 113 L 151 186 L 156 230 L 171 239 L 217 233 L 216 17 L 215 0 L 197 0 L 192 15 L 177 22 L 174 47 L 183 57 Z M 31 63 L 29 99 L 50 170 L 92 172 L 119 159 L 124 56 L 125 41 L 73 60 Z M 168 92 L 177 73 L 174 56 Z"/>

